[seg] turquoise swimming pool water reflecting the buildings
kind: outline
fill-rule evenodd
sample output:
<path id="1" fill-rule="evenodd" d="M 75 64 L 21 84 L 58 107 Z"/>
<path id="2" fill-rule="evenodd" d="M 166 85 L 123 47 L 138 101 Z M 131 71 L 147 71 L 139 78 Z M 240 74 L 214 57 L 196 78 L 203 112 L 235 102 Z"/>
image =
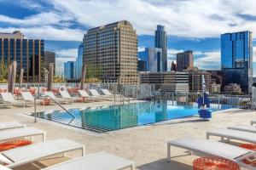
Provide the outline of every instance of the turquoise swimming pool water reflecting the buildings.
<path id="1" fill-rule="evenodd" d="M 229 108 L 231 108 L 230 105 L 211 105 L 210 110 L 220 111 Z M 145 101 L 129 105 L 86 107 L 69 111 L 75 116 L 74 119 L 63 111 L 41 112 L 38 116 L 90 131 L 108 132 L 198 115 L 195 103 L 179 105 L 172 101 Z"/>

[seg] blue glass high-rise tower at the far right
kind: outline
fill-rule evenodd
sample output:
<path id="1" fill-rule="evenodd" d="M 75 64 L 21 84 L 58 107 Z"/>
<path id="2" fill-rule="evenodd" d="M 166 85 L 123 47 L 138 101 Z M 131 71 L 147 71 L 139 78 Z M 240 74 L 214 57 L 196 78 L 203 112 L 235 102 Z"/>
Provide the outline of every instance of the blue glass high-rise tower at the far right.
<path id="1" fill-rule="evenodd" d="M 237 83 L 243 93 L 253 84 L 253 32 L 241 31 L 221 35 L 221 69 L 224 86 Z"/>

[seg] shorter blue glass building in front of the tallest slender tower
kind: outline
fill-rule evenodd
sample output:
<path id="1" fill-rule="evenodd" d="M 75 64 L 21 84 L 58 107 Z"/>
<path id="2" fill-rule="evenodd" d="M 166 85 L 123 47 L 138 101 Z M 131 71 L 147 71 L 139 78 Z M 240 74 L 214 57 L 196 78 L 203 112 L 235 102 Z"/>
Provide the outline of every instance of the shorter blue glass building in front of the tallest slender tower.
<path id="1" fill-rule="evenodd" d="M 145 48 L 145 51 L 138 52 L 138 71 L 163 71 L 162 48 Z"/>

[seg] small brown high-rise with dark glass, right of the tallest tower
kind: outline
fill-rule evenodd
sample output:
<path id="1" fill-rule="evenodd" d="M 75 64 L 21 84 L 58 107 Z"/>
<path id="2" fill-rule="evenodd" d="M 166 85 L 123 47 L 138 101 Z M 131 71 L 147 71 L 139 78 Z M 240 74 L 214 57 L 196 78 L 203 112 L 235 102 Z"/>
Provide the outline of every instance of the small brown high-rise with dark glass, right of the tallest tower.
<path id="1" fill-rule="evenodd" d="M 194 68 L 193 51 L 185 51 L 177 54 L 177 71 L 186 71 Z"/>

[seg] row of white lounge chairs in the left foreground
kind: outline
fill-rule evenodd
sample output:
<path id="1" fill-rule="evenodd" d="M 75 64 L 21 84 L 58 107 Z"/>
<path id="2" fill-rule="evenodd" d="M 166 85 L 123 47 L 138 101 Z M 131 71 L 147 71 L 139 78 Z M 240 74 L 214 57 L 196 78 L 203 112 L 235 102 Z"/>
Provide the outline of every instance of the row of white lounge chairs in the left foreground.
<path id="1" fill-rule="evenodd" d="M 45 157 L 59 154 L 64 155 L 65 153 L 73 150 L 81 150 L 81 157 L 71 159 L 70 161 L 64 161 L 52 167 L 44 168 L 44 170 L 80 170 L 81 167 L 90 170 L 121 170 L 130 167 L 131 170 L 135 170 L 134 161 L 114 156 L 107 152 L 99 152 L 84 156 L 85 151 L 83 144 L 73 142 L 69 139 L 53 139 L 46 141 L 44 131 L 37 128 L 26 127 L 19 122 L 0 123 L 0 141 L 23 139 L 37 135 L 43 136 L 43 142 L 0 152 L 0 169 L 11 170 L 11 168 L 18 167 L 32 161 L 42 160 L 42 158 Z"/>

